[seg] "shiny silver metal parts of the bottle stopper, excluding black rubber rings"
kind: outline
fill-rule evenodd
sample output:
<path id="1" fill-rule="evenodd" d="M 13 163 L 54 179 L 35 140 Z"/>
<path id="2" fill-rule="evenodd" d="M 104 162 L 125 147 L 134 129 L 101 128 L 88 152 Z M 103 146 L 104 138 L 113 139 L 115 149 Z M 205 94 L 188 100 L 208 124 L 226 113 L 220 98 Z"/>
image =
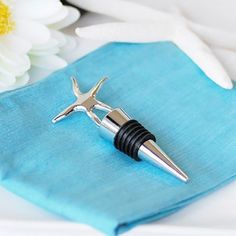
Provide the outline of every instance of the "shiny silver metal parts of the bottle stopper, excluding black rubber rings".
<path id="1" fill-rule="evenodd" d="M 96 99 L 96 94 L 105 82 L 106 78 L 101 79 L 92 89 L 87 93 L 81 93 L 78 83 L 75 78 L 72 77 L 72 87 L 74 95 L 77 100 L 67 107 L 64 111 L 59 113 L 53 120 L 53 123 L 66 118 L 73 112 L 82 111 L 85 112 L 90 119 L 100 127 L 100 133 L 103 137 L 109 139 L 114 144 L 114 138 L 120 128 L 131 118 L 120 108 L 111 108 L 103 102 Z M 105 117 L 100 118 L 93 112 L 94 109 L 107 112 Z M 180 180 L 187 182 L 188 176 L 177 167 L 173 161 L 160 149 L 160 147 L 152 140 L 148 140 L 141 145 L 138 151 L 138 157 L 144 161 L 151 163 L 154 166 L 158 166 Z"/>

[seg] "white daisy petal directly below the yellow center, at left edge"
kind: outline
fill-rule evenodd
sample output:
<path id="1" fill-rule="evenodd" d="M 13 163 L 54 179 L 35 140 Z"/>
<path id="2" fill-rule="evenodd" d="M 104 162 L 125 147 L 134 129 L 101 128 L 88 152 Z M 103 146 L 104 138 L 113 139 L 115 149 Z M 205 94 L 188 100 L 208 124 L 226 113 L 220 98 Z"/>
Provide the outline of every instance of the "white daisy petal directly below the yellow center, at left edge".
<path id="1" fill-rule="evenodd" d="M 7 34 L 2 36 L 0 38 L 0 43 L 4 44 L 7 48 L 10 48 L 17 54 L 26 54 L 32 47 L 30 42 L 15 34 Z"/>

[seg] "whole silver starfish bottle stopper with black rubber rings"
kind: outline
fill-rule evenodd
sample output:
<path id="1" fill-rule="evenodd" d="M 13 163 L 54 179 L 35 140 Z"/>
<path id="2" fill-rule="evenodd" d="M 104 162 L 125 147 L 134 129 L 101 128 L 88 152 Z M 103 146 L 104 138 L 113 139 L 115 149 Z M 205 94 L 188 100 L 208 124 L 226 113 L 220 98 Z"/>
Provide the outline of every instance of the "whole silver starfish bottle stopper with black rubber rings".
<path id="1" fill-rule="evenodd" d="M 52 122 L 67 117 L 72 112 L 86 112 L 90 119 L 100 128 L 101 135 L 110 140 L 121 152 L 136 161 L 144 160 L 162 168 L 178 179 L 187 182 L 188 176 L 156 144 L 156 138 L 138 121 L 131 119 L 122 109 L 111 108 L 96 99 L 96 94 L 107 78 L 101 79 L 87 93 L 82 93 L 77 80 L 72 77 L 72 86 L 77 100 L 59 113 Z M 101 120 L 94 109 L 107 112 Z"/>

